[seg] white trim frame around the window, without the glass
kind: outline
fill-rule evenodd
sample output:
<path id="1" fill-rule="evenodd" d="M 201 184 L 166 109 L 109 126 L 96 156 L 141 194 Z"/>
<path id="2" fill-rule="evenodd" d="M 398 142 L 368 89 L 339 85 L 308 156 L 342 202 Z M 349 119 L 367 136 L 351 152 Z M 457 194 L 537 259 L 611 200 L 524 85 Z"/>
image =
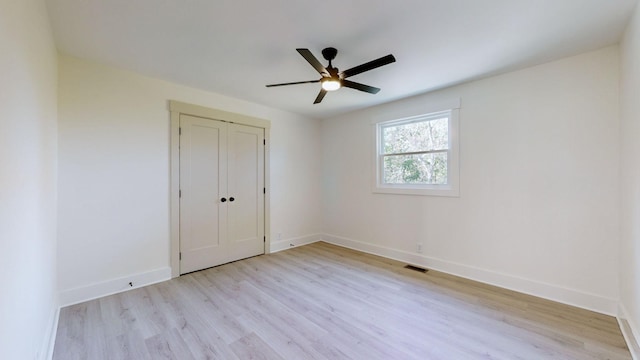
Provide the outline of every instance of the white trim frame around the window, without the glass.
<path id="1" fill-rule="evenodd" d="M 458 103 L 459 104 L 459 103 Z M 382 156 L 380 156 L 380 127 L 382 124 L 393 122 L 402 123 L 435 113 L 450 112 L 449 118 L 449 150 L 447 151 L 447 184 L 445 185 L 425 185 L 425 184 L 384 184 L 381 182 L 382 176 Z M 374 185 L 373 192 L 379 194 L 399 194 L 399 195 L 424 195 L 424 196 L 460 196 L 460 143 L 459 143 L 459 105 L 456 108 L 440 109 L 439 111 L 429 111 L 418 116 L 411 116 L 402 119 L 379 121 L 373 125 L 374 133 Z"/>

